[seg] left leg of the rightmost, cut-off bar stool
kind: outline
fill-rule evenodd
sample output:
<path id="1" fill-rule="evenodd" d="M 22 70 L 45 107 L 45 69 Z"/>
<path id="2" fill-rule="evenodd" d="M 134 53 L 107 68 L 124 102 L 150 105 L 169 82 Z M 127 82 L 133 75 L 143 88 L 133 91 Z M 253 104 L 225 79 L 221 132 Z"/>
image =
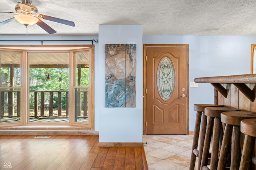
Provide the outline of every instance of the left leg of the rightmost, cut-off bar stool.
<path id="1" fill-rule="evenodd" d="M 239 170 L 250 170 L 250 166 L 252 164 L 252 148 L 254 148 L 254 143 L 255 137 L 245 135 Z"/>

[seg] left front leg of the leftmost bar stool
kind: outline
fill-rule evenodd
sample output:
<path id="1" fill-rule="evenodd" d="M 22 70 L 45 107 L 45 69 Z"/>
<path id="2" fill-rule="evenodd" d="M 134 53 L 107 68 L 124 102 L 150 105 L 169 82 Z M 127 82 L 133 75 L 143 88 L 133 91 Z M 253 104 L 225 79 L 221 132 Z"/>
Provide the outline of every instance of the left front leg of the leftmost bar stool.
<path id="1" fill-rule="evenodd" d="M 201 114 L 202 112 L 196 112 L 196 123 L 195 123 L 195 130 L 194 130 L 194 138 L 192 144 L 192 152 L 190 158 L 190 170 L 194 170 L 196 164 L 196 155 L 194 154 L 194 149 L 197 149 L 198 146 L 198 138 L 199 138 L 199 131 L 200 131 L 200 124 L 201 124 Z"/>

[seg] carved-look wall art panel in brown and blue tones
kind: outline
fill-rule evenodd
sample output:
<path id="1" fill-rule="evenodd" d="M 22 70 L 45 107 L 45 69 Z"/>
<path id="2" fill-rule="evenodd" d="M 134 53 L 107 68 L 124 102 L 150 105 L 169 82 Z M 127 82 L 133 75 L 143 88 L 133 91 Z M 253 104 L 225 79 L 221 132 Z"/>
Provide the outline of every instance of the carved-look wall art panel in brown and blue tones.
<path id="1" fill-rule="evenodd" d="M 136 44 L 105 44 L 105 107 L 136 107 Z"/>

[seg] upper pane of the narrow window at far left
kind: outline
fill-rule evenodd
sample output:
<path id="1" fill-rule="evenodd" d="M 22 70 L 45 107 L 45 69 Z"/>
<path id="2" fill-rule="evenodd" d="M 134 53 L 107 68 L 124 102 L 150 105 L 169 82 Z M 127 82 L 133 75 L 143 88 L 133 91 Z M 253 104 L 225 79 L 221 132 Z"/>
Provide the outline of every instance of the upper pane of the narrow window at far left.
<path id="1" fill-rule="evenodd" d="M 20 86 L 20 53 L 0 53 L 1 86 Z"/>

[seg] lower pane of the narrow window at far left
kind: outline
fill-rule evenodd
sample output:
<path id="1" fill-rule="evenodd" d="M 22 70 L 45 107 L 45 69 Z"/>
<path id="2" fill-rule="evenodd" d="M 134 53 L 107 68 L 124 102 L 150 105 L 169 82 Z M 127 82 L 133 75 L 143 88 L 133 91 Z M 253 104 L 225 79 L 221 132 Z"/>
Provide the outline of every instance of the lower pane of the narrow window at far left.
<path id="1" fill-rule="evenodd" d="M 20 89 L 0 90 L 1 123 L 20 122 Z"/>

